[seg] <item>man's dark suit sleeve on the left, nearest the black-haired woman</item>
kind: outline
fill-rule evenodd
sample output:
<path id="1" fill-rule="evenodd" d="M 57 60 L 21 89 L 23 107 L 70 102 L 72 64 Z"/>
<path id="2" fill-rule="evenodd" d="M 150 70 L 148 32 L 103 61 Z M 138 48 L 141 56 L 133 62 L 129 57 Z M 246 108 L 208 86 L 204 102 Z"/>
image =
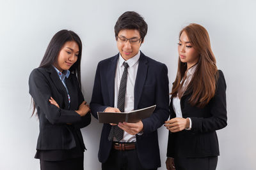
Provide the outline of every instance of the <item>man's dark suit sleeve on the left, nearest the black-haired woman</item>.
<path id="1" fill-rule="evenodd" d="M 98 119 L 97 112 L 104 111 L 108 106 L 104 106 L 102 97 L 102 84 L 100 81 L 100 63 L 97 66 L 95 80 L 93 85 L 92 100 L 90 103 L 93 117 Z"/>

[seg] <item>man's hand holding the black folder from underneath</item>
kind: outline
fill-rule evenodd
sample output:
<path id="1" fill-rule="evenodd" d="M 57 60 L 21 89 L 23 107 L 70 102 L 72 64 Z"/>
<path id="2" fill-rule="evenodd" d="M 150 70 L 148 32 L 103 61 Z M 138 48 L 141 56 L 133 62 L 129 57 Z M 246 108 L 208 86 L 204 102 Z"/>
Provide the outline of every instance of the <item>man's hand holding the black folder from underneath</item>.
<path id="1" fill-rule="evenodd" d="M 131 135 L 135 135 L 135 134 L 138 134 L 138 132 L 142 131 L 143 123 L 141 122 L 141 120 L 140 122 L 137 122 L 137 123 L 123 122 L 123 123 L 118 123 L 118 127 Z"/>

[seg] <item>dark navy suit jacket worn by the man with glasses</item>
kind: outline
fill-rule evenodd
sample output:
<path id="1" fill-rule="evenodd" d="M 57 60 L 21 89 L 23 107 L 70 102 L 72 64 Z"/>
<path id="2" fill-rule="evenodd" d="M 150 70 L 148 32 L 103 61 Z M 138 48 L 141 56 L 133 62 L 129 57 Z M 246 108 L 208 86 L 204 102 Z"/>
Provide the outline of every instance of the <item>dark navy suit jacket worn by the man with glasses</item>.
<path id="1" fill-rule="evenodd" d="M 97 118 L 97 111 L 114 107 L 115 71 L 119 54 L 99 62 L 95 75 L 92 101 L 92 114 Z M 168 70 L 161 62 L 150 59 L 142 52 L 134 85 L 134 110 L 156 104 L 151 117 L 143 122 L 143 135 L 136 135 L 136 151 L 141 165 L 145 169 L 160 167 L 160 154 L 157 128 L 169 117 Z M 99 161 L 106 162 L 111 150 L 112 141 L 108 141 L 111 125 L 104 124 L 99 148 Z"/>

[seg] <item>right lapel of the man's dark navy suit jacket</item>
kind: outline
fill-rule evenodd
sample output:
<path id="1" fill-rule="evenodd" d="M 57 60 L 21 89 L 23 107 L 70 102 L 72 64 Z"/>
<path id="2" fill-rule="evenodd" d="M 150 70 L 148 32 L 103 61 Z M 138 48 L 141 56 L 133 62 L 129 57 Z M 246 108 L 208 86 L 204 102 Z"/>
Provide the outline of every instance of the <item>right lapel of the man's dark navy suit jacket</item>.
<path id="1" fill-rule="evenodd" d="M 140 102 L 143 86 L 147 77 L 147 71 L 148 71 L 147 62 L 148 60 L 146 59 L 145 55 L 141 52 L 136 81 L 134 85 L 134 110 L 138 109 L 138 104 Z"/>

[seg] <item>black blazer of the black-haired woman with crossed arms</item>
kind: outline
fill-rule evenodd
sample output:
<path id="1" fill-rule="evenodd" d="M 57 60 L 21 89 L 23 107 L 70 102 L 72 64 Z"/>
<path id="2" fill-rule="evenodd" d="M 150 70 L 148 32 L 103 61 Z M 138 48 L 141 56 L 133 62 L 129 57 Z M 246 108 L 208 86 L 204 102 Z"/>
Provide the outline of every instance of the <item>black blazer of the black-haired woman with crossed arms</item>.
<path id="1" fill-rule="evenodd" d="M 65 81 L 70 95 L 70 108 L 68 109 L 67 91 L 61 82 L 54 67 L 36 68 L 29 76 L 29 94 L 35 101 L 38 113 L 40 132 L 36 150 L 69 150 L 76 147 L 74 135 L 67 123 L 76 129 L 77 136 L 83 148 L 83 136 L 80 128 L 91 122 L 90 113 L 81 117 L 74 110 L 84 101 L 83 94 L 75 74 Z M 52 97 L 60 108 L 49 103 Z"/>

